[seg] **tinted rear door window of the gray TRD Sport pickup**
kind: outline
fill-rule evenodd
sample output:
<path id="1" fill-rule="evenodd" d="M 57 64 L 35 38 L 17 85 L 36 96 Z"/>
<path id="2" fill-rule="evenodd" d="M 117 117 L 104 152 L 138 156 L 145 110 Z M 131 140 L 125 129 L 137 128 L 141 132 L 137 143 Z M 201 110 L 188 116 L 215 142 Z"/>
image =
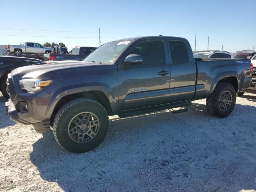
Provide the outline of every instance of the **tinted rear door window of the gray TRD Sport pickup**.
<path id="1" fill-rule="evenodd" d="M 188 50 L 183 41 L 169 41 L 172 64 L 181 64 L 188 62 Z"/>

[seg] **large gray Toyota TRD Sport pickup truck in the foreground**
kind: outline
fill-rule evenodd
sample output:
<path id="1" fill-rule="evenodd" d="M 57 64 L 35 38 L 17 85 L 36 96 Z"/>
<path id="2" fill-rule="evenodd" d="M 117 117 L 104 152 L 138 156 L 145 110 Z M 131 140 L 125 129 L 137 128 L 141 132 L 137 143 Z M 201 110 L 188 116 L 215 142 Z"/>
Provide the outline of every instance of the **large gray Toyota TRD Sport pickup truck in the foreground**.
<path id="1" fill-rule="evenodd" d="M 46 62 L 8 74 L 10 119 L 53 128 L 70 152 L 94 149 L 108 131 L 108 116 L 121 118 L 184 107 L 206 98 L 208 112 L 226 117 L 236 92 L 250 86 L 249 59 L 198 59 L 188 40 L 168 36 L 108 42 L 83 61 Z"/>

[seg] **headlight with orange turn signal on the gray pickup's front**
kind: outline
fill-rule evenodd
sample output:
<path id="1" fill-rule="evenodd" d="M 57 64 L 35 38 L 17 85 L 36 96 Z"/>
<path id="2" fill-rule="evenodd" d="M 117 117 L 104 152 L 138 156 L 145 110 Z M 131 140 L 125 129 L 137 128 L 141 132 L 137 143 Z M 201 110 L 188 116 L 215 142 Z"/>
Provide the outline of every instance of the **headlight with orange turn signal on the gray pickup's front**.
<path id="1" fill-rule="evenodd" d="M 19 81 L 20 88 L 27 90 L 28 92 L 35 92 L 43 87 L 52 84 L 52 80 L 42 79 L 22 79 Z"/>

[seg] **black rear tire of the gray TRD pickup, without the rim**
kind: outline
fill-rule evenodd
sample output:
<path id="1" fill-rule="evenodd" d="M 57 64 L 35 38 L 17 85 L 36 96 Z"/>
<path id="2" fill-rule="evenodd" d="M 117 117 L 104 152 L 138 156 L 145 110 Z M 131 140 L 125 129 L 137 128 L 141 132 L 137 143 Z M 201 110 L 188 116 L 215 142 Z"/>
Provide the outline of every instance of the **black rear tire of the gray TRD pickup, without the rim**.
<path id="1" fill-rule="evenodd" d="M 232 102 L 230 104 L 230 107 L 223 111 L 220 108 L 219 100 L 220 96 L 223 92 L 229 91 L 232 95 Z M 233 111 L 236 104 L 236 89 L 232 84 L 226 83 L 226 82 L 219 82 L 216 85 L 216 88 L 214 89 L 212 95 L 206 99 L 206 108 L 208 112 L 212 116 L 216 117 L 226 117 L 230 115 L 230 113 Z"/>

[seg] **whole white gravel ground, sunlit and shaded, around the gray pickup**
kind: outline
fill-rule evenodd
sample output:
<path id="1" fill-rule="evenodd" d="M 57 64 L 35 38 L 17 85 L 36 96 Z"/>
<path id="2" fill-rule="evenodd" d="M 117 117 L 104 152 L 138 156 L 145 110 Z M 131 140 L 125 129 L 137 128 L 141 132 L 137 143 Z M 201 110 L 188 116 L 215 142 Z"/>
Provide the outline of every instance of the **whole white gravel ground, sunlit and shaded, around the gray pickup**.
<path id="1" fill-rule="evenodd" d="M 206 100 L 182 114 L 111 116 L 104 142 L 84 154 L 12 122 L 4 102 L 0 95 L 0 191 L 256 190 L 256 95 L 238 97 L 227 118 L 210 116 Z"/>

